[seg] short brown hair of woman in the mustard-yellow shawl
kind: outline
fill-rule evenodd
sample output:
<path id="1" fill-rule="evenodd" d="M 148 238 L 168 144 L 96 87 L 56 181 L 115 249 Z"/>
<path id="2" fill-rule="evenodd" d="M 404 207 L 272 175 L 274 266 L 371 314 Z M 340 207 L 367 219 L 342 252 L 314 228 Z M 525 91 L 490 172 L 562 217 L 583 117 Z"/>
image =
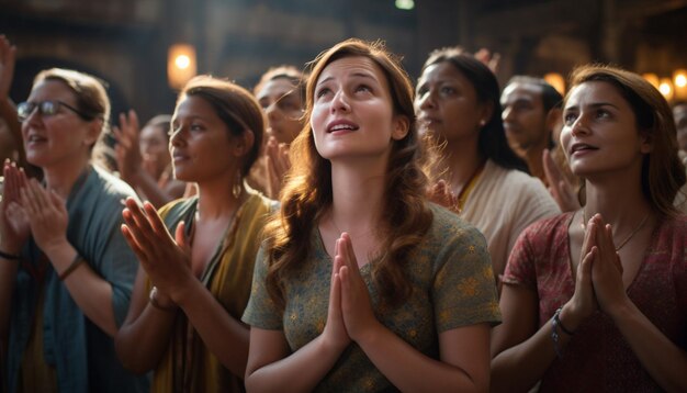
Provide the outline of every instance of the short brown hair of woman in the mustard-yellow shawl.
<path id="1" fill-rule="evenodd" d="M 200 97 L 207 101 L 232 135 L 252 132 L 252 146 L 241 162 L 241 177 L 246 177 L 258 158 L 264 134 L 264 120 L 258 101 L 243 87 L 207 75 L 191 79 L 179 93 L 177 105 L 187 97 Z"/>

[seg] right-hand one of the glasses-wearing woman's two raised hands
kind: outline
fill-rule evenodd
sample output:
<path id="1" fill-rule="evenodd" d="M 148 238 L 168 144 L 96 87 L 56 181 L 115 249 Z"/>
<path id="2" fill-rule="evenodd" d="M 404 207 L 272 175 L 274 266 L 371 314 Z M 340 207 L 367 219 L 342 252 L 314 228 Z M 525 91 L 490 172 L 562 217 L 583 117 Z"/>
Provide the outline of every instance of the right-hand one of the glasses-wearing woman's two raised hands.
<path id="1" fill-rule="evenodd" d="M 31 179 L 21 190 L 21 204 L 33 238 L 46 255 L 68 244 L 66 202 L 54 190 L 46 190 L 36 179 Z"/>

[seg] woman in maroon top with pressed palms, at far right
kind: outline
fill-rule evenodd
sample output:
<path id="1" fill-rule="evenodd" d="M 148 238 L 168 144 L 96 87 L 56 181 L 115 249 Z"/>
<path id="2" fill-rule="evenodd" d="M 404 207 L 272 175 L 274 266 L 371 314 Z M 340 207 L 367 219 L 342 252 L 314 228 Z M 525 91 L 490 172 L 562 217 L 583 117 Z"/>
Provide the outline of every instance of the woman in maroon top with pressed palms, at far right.
<path id="1" fill-rule="evenodd" d="M 671 109 L 635 74 L 587 66 L 561 145 L 586 203 L 530 226 L 506 268 L 494 390 L 687 391 L 687 218 Z"/>

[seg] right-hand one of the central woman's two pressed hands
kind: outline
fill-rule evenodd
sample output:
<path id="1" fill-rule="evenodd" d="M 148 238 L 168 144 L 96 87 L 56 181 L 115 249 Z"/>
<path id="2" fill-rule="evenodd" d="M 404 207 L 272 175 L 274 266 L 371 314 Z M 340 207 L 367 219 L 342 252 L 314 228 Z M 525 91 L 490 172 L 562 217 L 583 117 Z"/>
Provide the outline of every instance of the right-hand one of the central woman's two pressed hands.
<path id="1" fill-rule="evenodd" d="M 374 316 L 368 285 L 360 274 L 353 245 L 346 232 L 341 234 L 337 244 L 335 262 L 337 260 L 341 263 L 339 280 L 341 281 L 344 324 L 351 339 L 359 341 L 380 322 Z"/>

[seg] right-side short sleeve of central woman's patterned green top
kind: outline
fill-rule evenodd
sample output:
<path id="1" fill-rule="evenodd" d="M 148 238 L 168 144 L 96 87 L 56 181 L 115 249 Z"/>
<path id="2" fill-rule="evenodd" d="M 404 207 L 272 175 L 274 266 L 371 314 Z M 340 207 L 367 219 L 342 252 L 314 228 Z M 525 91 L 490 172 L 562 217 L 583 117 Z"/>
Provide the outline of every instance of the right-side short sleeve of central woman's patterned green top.
<path id="1" fill-rule="evenodd" d="M 498 324 L 500 312 L 484 236 L 463 226 L 443 247 L 432 285 L 437 332 L 484 322 Z"/>

